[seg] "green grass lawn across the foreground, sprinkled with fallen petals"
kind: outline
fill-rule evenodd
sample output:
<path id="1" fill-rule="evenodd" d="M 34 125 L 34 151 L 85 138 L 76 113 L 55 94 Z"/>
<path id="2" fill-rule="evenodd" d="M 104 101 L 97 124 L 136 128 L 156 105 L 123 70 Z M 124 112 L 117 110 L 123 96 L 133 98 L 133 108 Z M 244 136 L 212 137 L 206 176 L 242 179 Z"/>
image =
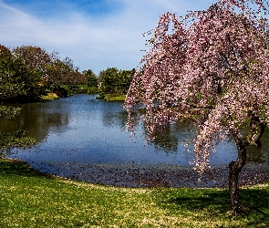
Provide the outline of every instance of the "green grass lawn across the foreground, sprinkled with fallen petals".
<path id="1" fill-rule="evenodd" d="M 269 227 L 269 183 L 241 189 L 128 189 L 68 181 L 0 159 L 0 227 Z"/>

